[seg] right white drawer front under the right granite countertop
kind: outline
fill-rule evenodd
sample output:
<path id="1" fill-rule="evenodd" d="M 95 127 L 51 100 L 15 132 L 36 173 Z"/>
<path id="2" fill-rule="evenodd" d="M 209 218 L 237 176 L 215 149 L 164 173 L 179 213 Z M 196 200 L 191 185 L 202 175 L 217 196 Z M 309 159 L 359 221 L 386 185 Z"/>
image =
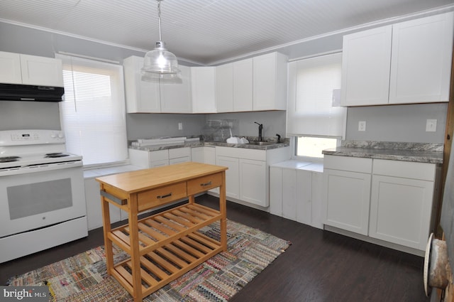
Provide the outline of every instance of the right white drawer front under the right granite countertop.
<path id="1" fill-rule="evenodd" d="M 435 181 L 435 163 L 374 159 L 374 174 Z"/>

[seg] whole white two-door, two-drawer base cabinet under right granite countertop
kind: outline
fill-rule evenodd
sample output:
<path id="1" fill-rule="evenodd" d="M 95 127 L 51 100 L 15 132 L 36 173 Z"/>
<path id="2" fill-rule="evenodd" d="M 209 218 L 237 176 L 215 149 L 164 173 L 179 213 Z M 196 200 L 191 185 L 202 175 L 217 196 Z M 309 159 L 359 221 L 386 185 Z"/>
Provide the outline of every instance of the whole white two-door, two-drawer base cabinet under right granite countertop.
<path id="1" fill-rule="evenodd" d="M 435 163 L 325 155 L 324 224 L 424 251 L 435 180 Z"/>

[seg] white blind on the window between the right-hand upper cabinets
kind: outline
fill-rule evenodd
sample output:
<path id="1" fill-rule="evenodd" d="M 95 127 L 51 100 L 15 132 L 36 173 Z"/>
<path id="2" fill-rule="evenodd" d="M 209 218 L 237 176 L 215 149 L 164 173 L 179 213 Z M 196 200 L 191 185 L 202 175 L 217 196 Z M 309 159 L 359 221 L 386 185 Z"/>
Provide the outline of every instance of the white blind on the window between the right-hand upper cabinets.
<path id="1" fill-rule="evenodd" d="M 343 137 L 346 108 L 332 106 L 341 65 L 341 53 L 289 63 L 287 136 Z"/>

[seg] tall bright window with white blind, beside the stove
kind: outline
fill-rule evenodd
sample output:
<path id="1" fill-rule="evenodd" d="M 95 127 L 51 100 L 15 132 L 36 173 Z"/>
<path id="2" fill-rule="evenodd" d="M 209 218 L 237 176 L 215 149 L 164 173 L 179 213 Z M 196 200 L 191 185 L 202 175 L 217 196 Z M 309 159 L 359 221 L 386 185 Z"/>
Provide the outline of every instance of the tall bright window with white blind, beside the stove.
<path id="1" fill-rule="evenodd" d="M 84 166 L 121 163 L 128 157 L 123 67 L 70 55 L 63 61 L 65 101 L 60 103 L 67 151 Z"/>

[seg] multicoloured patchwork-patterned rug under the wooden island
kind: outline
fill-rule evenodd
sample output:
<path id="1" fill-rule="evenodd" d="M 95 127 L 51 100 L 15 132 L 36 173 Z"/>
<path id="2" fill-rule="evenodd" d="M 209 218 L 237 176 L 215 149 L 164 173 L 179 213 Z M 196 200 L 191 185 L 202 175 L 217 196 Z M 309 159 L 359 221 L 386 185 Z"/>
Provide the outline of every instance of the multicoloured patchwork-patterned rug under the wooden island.
<path id="1" fill-rule="evenodd" d="M 219 223 L 204 227 L 201 232 L 218 239 Z M 290 245 L 231 220 L 227 221 L 227 238 L 227 252 L 217 254 L 143 301 L 228 301 Z M 114 246 L 115 262 L 126 257 Z M 102 246 L 12 277 L 9 285 L 47 285 L 51 301 L 133 301 L 126 289 L 107 276 Z"/>

